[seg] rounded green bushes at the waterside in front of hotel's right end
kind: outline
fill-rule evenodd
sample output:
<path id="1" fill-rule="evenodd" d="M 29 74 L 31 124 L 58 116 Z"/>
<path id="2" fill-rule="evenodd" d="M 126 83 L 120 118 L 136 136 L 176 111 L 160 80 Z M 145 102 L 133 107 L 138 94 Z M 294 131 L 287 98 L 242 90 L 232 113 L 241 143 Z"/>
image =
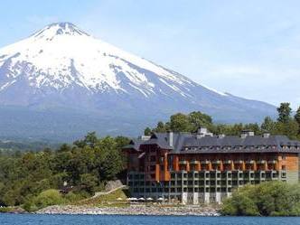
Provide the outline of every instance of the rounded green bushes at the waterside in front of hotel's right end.
<path id="1" fill-rule="evenodd" d="M 300 185 L 246 185 L 223 202 L 221 212 L 231 216 L 300 216 Z"/>

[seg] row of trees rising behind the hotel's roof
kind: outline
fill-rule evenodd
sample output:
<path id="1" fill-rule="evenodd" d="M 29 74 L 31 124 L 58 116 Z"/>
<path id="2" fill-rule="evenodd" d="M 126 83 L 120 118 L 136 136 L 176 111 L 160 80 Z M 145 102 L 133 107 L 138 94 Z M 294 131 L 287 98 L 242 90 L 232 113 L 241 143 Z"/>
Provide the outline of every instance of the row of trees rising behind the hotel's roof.
<path id="1" fill-rule="evenodd" d="M 256 134 L 270 133 L 271 135 L 285 135 L 291 139 L 300 140 L 300 107 L 292 114 L 290 103 L 281 103 L 277 108 L 277 119 L 265 117 L 263 123 L 249 124 L 215 124 L 209 115 L 200 111 L 190 114 L 177 113 L 167 122 L 158 122 L 155 128 L 146 127 L 145 135 L 155 132 L 196 132 L 199 127 L 207 127 L 213 134 L 239 136 L 242 130 L 252 130 Z"/>

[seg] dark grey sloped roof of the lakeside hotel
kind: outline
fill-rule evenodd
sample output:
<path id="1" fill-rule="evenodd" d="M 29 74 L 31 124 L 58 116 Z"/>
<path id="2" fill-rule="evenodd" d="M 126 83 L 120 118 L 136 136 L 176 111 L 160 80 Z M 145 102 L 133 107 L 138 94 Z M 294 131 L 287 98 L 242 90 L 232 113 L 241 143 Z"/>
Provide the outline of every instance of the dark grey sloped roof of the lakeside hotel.
<path id="1" fill-rule="evenodd" d="M 133 140 L 131 148 L 137 151 L 144 145 L 157 145 L 170 150 L 171 154 L 208 153 L 262 153 L 289 152 L 300 153 L 300 142 L 287 136 L 202 136 L 191 133 L 173 133 L 170 145 L 169 133 L 155 133 L 149 140 Z"/>

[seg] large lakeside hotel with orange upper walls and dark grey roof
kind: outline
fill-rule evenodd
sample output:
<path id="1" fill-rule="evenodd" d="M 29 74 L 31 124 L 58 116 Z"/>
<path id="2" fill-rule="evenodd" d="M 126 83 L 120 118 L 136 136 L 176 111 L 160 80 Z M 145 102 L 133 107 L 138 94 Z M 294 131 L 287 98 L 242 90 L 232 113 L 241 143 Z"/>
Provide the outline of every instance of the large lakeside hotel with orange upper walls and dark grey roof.
<path id="1" fill-rule="evenodd" d="M 213 136 L 155 133 L 132 140 L 127 153 L 127 185 L 136 198 L 169 202 L 221 202 L 247 183 L 299 182 L 300 142 L 286 136 Z"/>

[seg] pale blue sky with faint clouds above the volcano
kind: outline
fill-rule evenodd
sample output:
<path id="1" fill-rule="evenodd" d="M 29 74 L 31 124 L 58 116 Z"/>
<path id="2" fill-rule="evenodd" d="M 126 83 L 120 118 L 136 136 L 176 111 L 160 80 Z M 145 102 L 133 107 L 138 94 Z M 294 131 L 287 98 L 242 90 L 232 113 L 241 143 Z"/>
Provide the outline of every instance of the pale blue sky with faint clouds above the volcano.
<path id="1" fill-rule="evenodd" d="M 300 1 L 2 1 L 0 47 L 71 22 L 220 91 L 300 106 Z"/>

